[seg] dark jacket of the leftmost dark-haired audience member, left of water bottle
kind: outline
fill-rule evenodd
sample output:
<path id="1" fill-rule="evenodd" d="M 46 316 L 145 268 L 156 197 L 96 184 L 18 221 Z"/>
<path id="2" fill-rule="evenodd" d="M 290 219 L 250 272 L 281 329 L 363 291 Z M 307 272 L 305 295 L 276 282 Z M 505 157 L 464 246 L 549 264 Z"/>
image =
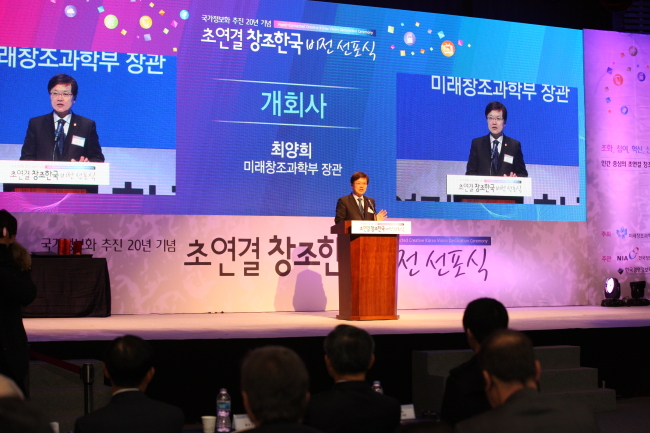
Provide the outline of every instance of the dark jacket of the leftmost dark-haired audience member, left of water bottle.
<path id="1" fill-rule="evenodd" d="M 181 433 L 185 416 L 176 406 L 140 391 L 115 394 L 104 407 L 77 419 L 75 433 Z"/>

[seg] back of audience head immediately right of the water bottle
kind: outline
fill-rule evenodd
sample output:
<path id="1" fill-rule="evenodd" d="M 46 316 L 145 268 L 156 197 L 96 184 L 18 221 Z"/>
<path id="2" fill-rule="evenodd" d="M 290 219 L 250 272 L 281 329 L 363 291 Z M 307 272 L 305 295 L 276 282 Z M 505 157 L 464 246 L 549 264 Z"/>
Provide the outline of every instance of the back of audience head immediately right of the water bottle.
<path id="1" fill-rule="evenodd" d="M 280 346 L 250 352 L 241 367 L 244 407 L 254 432 L 317 433 L 299 423 L 309 401 L 309 374 L 296 353 Z"/>

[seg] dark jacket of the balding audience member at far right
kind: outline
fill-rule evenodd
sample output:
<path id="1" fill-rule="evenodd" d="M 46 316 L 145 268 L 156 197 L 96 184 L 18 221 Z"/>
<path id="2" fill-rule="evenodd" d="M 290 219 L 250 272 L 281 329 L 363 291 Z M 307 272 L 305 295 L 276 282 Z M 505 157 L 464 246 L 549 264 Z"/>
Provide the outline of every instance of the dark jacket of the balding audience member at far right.
<path id="1" fill-rule="evenodd" d="M 585 406 L 535 389 L 517 391 L 501 406 L 456 424 L 457 433 L 597 433 Z"/>

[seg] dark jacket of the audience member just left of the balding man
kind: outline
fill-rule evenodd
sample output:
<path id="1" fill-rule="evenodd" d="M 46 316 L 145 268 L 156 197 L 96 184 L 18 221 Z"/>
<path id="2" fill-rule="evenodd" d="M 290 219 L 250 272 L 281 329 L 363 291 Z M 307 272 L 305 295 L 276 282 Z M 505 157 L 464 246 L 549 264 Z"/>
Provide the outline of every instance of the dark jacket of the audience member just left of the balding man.
<path id="1" fill-rule="evenodd" d="M 485 395 L 483 373 L 478 365 L 478 357 L 474 355 L 449 372 L 440 417 L 454 426 L 490 408 L 490 402 Z"/>

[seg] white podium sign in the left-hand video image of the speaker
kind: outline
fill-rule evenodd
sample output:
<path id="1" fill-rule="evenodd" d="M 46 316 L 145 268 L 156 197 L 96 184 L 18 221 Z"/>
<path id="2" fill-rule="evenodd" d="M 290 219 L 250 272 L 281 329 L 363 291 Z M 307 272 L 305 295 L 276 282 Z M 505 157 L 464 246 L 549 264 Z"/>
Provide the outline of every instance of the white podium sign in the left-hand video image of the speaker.
<path id="1" fill-rule="evenodd" d="M 106 162 L 0 161 L 0 183 L 109 185 Z"/>

